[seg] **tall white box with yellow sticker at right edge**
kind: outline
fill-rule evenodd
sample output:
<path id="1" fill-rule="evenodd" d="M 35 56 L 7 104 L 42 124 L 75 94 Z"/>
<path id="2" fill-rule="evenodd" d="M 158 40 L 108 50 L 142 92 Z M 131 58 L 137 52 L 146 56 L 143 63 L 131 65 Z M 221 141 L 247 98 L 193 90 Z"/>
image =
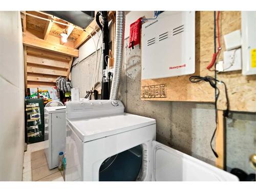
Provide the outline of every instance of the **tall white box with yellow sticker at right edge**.
<path id="1" fill-rule="evenodd" d="M 256 11 L 242 11 L 242 74 L 256 74 Z"/>

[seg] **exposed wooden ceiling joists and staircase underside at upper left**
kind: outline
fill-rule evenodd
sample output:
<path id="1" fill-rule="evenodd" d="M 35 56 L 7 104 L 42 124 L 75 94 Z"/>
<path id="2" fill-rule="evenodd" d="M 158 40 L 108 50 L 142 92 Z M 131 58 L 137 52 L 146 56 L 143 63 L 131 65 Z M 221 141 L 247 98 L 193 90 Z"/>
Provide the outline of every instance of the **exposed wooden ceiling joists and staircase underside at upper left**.
<path id="1" fill-rule="evenodd" d="M 40 11 L 21 11 L 25 60 L 26 88 L 55 86 L 58 76 L 69 78 L 72 61 L 78 48 L 94 35 L 99 27 L 95 21 L 82 29 L 53 15 Z M 110 12 L 109 19 L 115 12 Z M 113 19 L 113 18 L 112 18 Z M 74 27 L 68 41 L 60 34 Z"/>

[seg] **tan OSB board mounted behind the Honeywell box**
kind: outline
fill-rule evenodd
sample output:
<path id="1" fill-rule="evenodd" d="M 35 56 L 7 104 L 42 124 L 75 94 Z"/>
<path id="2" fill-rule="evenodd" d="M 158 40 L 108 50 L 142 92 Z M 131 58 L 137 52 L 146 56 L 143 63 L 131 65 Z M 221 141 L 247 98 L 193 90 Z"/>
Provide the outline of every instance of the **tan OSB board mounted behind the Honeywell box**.
<path id="1" fill-rule="evenodd" d="M 223 35 L 241 29 L 241 12 L 224 11 L 220 14 L 222 52 L 218 60 L 223 60 L 225 50 Z M 214 52 L 214 12 L 196 12 L 196 72 L 193 75 L 214 77 L 214 72 L 206 67 Z M 141 80 L 141 87 L 166 84 L 166 97 L 142 98 L 143 100 L 169 100 L 169 101 L 202 101 L 214 102 L 215 91 L 208 82 L 191 83 L 191 75 L 170 77 L 162 79 Z M 217 78 L 227 84 L 231 111 L 256 112 L 256 75 L 243 76 L 241 71 L 218 73 Z M 223 84 L 218 86 L 221 90 L 218 109 L 226 109 L 226 98 Z M 141 88 L 143 94 L 143 88 Z"/>

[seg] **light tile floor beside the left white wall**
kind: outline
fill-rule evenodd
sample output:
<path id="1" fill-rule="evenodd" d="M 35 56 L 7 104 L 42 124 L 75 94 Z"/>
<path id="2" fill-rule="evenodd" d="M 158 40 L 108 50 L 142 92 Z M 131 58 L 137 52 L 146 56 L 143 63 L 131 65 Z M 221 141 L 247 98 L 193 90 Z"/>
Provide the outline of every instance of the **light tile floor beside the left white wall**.
<path id="1" fill-rule="evenodd" d="M 44 141 L 28 144 L 24 153 L 23 181 L 64 181 L 62 172 L 48 168 L 44 148 Z"/>

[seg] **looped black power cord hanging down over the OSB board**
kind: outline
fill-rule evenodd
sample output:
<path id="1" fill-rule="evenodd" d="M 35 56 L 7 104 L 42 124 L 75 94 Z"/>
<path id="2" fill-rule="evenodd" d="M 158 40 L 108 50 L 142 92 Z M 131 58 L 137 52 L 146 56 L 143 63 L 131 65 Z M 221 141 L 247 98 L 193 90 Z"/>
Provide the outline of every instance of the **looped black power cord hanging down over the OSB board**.
<path id="1" fill-rule="evenodd" d="M 218 118 L 217 118 L 217 113 L 218 113 L 218 109 L 217 109 L 217 101 L 218 101 L 218 98 L 219 98 L 219 95 L 220 95 L 220 89 L 217 87 L 217 82 L 219 82 L 220 84 L 223 83 L 224 84 L 224 87 L 225 87 L 225 95 L 226 95 L 226 102 L 227 102 L 227 109 L 224 111 L 224 114 L 223 116 L 224 117 L 228 117 L 228 112 L 229 112 L 229 100 L 228 100 L 228 95 L 227 95 L 227 86 L 225 84 L 225 82 L 223 81 L 220 81 L 214 77 L 211 77 L 211 76 L 205 76 L 205 77 L 201 77 L 201 76 L 191 76 L 189 77 L 189 81 L 192 82 L 192 83 L 198 83 L 200 81 L 206 81 L 206 82 L 209 82 L 210 86 L 212 88 L 214 88 L 216 90 L 216 99 L 215 99 L 215 110 L 216 110 L 216 118 L 215 118 L 215 121 L 216 121 L 216 129 L 214 131 L 214 134 L 212 135 L 211 137 L 211 140 L 210 140 L 210 147 L 211 147 L 211 150 L 212 152 L 214 153 L 214 155 L 218 158 L 218 154 L 215 152 L 214 148 L 212 147 L 212 141 L 214 140 L 214 136 L 216 134 L 216 131 L 217 131 L 217 127 L 218 127 Z"/>

